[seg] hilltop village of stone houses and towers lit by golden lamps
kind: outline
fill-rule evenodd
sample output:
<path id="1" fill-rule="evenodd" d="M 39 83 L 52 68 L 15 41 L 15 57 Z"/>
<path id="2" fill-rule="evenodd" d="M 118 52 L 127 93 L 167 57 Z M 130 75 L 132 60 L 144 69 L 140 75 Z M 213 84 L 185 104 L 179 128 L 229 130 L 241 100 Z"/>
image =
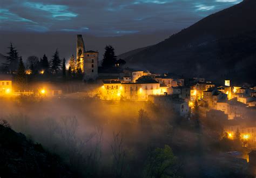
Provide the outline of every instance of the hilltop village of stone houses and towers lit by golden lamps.
<path id="1" fill-rule="evenodd" d="M 107 65 L 110 64 L 106 63 L 105 66 Z M 242 138 L 256 143 L 256 86 L 232 85 L 229 79 L 214 83 L 203 77 L 184 78 L 173 73 L 160 74 L 131 69 L 125 66 L 122 59 L 104 68 L 99 65 L 97 51 L 85 50 L 82 35 L 77 35 L 76 58 L 72 56 L 68 63 L 64 61 L 59 70 L 62 70 L 65 77 L 66 72 L 72 77 L 78 71 L 80 75 L 74 78 L 78 78 L 79 82 L 73 84 L 71 78 L 67 85 L 60 86 L 56 81 L 48 84 L 46 77 L 30 88 L 22 89 L 15 85 L 15 72 L 7 72 L 0 74 L 0 95 L 78 99 L 91 97 L 116 102 L 152 102 L 156 106 L 173 109 L 180 117 L 188 120 L 195 114 L 203 118 L 214 118 L 224 123 L 225 132 L 230 139 L 239 130 Z M 58 68 L 52 73 L 57 71 Z M 49 72 L 44 69 L 37 72 L 41 78 L 47 74 L 49 76 Z M 30 76 L 31 69 L 26 69 L 25 74 Z"/>

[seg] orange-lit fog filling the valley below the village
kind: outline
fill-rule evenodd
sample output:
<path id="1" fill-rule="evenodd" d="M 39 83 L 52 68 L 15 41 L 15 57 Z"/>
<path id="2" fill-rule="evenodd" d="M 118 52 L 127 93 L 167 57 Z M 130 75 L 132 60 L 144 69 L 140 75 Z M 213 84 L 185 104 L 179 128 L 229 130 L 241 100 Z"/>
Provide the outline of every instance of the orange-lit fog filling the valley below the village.
<path id="1" fill-rule="evenodd" d="M 216 160 L 218 123 L 202 128 L 150 102 L 6 98 L 0 108 L 12 129 L 59 155 L 77 177 L 147 177 L 150 150 L 165 145 L 177 158 L 173 177 L 204 177 L 213 161 L 227 166 Z"/>

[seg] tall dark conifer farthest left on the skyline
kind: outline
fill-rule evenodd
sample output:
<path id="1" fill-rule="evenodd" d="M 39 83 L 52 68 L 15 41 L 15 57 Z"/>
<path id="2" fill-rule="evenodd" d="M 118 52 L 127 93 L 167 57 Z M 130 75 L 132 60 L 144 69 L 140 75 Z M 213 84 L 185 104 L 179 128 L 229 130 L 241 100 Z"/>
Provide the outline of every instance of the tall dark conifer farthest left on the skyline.
<path id="1" fill-rule="evenodd" d="M 16 50 L 15 47 L 12 46 L 12 43 L 10 45 L 10 47 L 8 47 L 10 49 L 10 51 L 7 53 L 8 56 L 7 56 L 7 63 L 8 63 L 8 67 L 9 67 L 9 70 L 11 72 L 17 70 L 17 67 L 18 67 L 18 52 Z"/>

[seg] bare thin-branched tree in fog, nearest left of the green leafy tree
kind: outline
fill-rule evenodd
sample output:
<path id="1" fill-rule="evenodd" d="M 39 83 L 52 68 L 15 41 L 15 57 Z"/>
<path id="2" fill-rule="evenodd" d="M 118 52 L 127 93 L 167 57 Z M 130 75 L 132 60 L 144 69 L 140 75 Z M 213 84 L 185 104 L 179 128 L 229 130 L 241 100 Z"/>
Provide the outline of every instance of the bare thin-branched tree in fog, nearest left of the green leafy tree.
<path id="1" fill-rule="evenodd" d="M 113 155 L 113 172 L 116 177 L 123 177 L 125 150 L 122 133 L 113 132 L 113 141 L 111 142 L 111 150 Z"/>

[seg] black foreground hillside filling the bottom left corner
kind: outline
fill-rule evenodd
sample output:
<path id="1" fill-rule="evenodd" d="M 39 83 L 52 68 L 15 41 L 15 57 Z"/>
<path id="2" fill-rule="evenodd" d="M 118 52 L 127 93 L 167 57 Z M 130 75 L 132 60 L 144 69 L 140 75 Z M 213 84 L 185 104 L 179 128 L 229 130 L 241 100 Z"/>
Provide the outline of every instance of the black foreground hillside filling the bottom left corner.
<path id="1" fill-rule="evenodd" d="M 2 121 L 1 121 L 2 122 Z M 56 155 L 0 125 L 1 177 L 73 177 Z"/>

